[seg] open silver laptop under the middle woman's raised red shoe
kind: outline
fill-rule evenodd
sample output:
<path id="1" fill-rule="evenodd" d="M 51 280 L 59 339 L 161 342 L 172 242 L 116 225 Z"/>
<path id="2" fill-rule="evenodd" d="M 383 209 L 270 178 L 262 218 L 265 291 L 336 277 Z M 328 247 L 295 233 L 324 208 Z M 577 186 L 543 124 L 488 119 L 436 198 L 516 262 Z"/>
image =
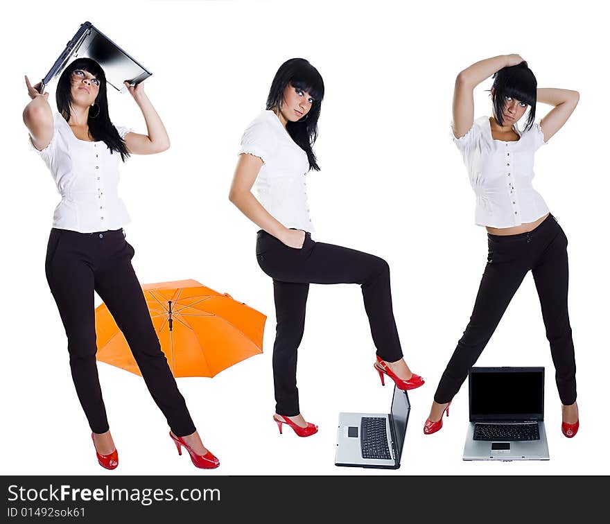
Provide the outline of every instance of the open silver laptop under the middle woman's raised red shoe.
<path id="1" fill-rule="evenodd" d="M 340 413 L 336 466 L 398 469 L 411 404 L 394 385 L 390 413 Z"/>

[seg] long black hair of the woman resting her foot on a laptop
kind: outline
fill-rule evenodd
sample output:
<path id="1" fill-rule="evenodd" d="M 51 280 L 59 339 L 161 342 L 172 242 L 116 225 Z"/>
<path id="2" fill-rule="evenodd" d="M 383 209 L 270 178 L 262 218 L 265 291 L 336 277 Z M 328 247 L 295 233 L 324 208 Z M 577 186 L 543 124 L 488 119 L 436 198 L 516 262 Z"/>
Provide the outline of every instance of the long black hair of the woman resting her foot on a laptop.
<path id="1" fill-rule="evenodd" d="M 275 78 L 271 83 L 267 97 L 268 110 L 281 108 L 284 101 L 284 89 L 288 84 L 307 91 L 313 98 L 313 104 L 306 114 L 306 118 L 303 121 L 288 121 L 286 130 L 299 147 L 307 153 L 309 168 L 320 171 L 312 146 L 317 139 L 317 119 L 320 118 L 320 107 L 322 98 L 324 98 L 324 80 L 317 69 L 304 58 L 286 60 L 275 73 Z"/>

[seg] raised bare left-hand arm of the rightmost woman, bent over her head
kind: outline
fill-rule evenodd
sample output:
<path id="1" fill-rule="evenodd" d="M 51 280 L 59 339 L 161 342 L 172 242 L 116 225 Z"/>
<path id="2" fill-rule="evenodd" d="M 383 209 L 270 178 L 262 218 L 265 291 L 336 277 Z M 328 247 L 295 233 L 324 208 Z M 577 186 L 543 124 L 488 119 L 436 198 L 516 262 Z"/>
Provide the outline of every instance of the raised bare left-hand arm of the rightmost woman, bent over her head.
<path id="1" fill-rule="evenodd" d="M 455 78 L 453 89 L 453 134 L 456 138 L 463 137 L 472 127 L 474 121 L 474 98 L 472 91 L 485 78 L 489 78 L 503 67 L 517 65 L 523 62 L 519 55 L 500 55 L 486 58 L 460 71 Z"/>

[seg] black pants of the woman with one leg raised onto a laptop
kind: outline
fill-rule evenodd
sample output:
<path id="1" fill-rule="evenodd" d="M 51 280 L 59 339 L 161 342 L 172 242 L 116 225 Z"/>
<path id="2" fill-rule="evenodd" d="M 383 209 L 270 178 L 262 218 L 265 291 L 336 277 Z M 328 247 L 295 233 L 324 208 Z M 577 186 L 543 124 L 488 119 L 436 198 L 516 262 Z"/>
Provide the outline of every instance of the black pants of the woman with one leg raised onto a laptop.
<path id="1" fill-rule="evenodd" d="M 273 380 L 277 414 L 299 414 L 297 348 L 303 337 L 310 283 L 359 283 L 373 342 L 383 360 L 403 356 L 392 312 L 390 268 L 378 256 L 338 245 L 314 242 L 309 233 L 301 249 L 288 247 L 259 231 L 256 259 L 273 279 L 277 328 L 273 346 Z"/>

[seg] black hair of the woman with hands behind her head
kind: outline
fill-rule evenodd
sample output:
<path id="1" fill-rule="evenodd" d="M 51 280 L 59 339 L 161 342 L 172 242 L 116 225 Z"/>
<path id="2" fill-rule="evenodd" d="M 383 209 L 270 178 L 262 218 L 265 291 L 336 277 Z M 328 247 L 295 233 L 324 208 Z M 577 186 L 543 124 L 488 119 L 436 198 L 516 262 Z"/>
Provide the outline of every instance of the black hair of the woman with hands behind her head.
<path id="1" fill-rule="evenodd" d="M 505 96 L 525 102 L 530 106 L 528 119 L 525 121 L 525 131 L 534 124 L 536 116 L 536 89 L 538 82 L 528 62 L 521 62 L 516 66 L 503 67 L 494 73 L 494 91 L 491 94 L 491 102 L 494 105 L 494 119 L 499 125 L 504 125 Z"/>

